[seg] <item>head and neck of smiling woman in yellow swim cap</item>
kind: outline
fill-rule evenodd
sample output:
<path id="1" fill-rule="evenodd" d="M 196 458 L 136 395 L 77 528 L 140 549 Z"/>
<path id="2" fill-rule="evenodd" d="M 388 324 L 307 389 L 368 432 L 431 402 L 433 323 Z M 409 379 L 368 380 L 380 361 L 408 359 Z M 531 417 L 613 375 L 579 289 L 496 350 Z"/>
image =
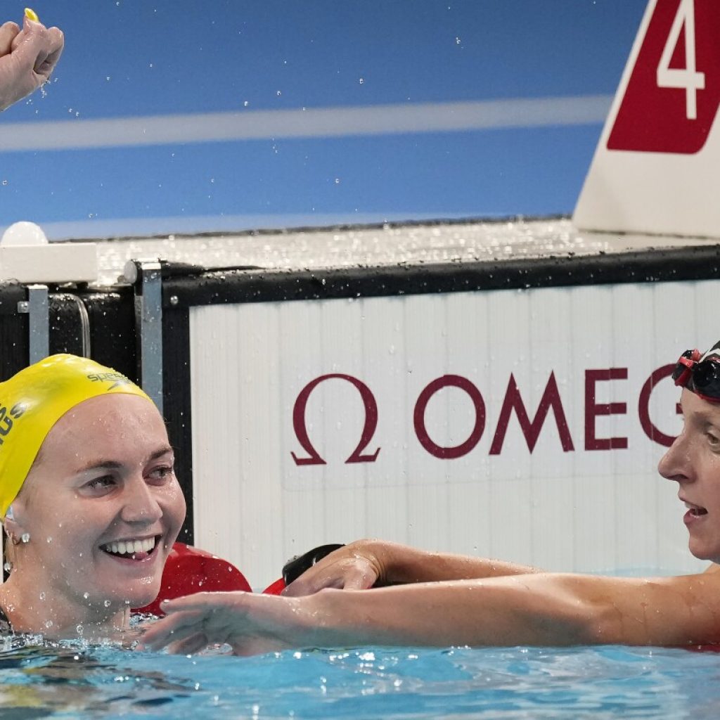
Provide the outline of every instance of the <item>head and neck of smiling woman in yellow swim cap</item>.
<path id="1" fill-rule="evenodd" d="M 50 637 L 126 629 L 184 520 L 173 464 L 156 406 L 112 368 L 54 355 L 0 383 L 0 621 Z"/>

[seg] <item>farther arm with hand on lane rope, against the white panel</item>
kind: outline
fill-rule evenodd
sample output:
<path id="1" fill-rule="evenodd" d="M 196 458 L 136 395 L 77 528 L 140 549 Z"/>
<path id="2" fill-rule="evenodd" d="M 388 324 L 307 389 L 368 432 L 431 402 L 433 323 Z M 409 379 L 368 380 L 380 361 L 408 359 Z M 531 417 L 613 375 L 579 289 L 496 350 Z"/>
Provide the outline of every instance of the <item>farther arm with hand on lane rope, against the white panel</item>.
<path id="1" fill-rule="evenodd" d="M 288 585 L 284 595 L 312 595 L 323 588 L 364 590 L 441 580 L 470 580 L 539 572 L 534 567 L 441 552 L 382 540 L 358 540 L 330 553 Z"/>

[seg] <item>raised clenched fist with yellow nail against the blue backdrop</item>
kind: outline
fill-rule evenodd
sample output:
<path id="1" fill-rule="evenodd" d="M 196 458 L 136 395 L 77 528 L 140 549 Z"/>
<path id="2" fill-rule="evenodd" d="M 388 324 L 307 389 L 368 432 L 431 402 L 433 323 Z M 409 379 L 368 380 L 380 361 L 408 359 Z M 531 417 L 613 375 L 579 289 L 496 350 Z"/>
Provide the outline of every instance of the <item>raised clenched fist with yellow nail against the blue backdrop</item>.
<path id="1" fill-rule="evenodd" d="M 0 110 L 50 79 L 65 43 L 57 27 L 23 20 L 22 30 L 14 22 L 0 25 Z"/>

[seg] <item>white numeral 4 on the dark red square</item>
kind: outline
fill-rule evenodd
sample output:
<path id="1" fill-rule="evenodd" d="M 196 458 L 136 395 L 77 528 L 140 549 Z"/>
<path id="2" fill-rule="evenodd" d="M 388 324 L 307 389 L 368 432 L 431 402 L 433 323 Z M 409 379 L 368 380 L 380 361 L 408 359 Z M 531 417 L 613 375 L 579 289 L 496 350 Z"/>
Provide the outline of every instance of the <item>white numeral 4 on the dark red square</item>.
<path id="1" fill-rule="evenodd" d="M 685 68 L 671 68 L 672 53 L 678 46 L 680 31 L 685 30 Z M 693 0 L 680 0 L 678 12 L 667 36 L 657 66 L 657 86 L 685 89 L 685 117 L 697 120 L 697 91 L 705 89 L 705 73 L 696 70 L 695 56 L 695 4 Z"/>

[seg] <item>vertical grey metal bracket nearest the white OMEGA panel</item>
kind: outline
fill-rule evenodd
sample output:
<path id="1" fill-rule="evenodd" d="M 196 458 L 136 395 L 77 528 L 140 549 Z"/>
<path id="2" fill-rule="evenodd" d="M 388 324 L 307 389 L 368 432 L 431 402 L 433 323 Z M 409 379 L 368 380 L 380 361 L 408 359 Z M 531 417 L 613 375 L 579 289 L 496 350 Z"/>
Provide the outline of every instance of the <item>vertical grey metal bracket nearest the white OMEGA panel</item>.
<path id="1" fill-rule="evenodd" d="M 158 258 L 130 260 L 125 279 L 135 285 L 140 385 L 163 412 L 163 278 Z"/>

